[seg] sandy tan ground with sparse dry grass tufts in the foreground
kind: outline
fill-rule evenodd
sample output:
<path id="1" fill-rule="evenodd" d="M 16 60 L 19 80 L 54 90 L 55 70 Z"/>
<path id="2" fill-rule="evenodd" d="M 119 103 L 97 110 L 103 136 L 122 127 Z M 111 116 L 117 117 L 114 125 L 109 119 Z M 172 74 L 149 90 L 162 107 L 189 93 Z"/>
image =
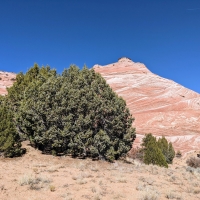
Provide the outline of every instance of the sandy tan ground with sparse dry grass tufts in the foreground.
<path id="1" fill-rule="evenodd" d="M 0 200 L 196 200 L 200 173 L 175 158 L 168 169 L 138 161 L 92 161 L 43 155 L 28 143 L 20 158 L 0 158 Z"/>

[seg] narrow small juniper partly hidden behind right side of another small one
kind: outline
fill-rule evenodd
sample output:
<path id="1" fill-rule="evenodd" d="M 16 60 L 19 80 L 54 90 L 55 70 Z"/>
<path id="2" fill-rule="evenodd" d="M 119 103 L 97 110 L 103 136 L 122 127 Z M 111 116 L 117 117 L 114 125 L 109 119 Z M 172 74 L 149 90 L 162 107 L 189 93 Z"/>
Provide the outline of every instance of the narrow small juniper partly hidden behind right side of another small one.
<path id="1" fill-rule="evenodd" d="M 166 138 L 163 136 L 162 138 L 158 139 L 158 147 L 161 149 L 163 155 L 168 164 L 172 164 L 172 161 L 175 157 L 175 151 L 172 146 L 172 143 L 168 143 Z"/>

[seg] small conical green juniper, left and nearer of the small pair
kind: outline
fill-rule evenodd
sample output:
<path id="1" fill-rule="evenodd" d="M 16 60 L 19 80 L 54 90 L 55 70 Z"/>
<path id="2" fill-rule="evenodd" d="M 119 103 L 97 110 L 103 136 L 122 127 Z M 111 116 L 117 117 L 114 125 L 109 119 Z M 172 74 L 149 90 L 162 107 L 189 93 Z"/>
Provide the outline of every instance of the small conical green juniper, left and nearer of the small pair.
<path id="1" fill-rule="evenodd" d="M 168 167 L 166 159 L 158 147 L 156 137 L 151 133 L 147 134 L 142 141 L 142 146 L 144 150 L 143 161 L 145 164 L 159 165 L 162 167 Z"/>

